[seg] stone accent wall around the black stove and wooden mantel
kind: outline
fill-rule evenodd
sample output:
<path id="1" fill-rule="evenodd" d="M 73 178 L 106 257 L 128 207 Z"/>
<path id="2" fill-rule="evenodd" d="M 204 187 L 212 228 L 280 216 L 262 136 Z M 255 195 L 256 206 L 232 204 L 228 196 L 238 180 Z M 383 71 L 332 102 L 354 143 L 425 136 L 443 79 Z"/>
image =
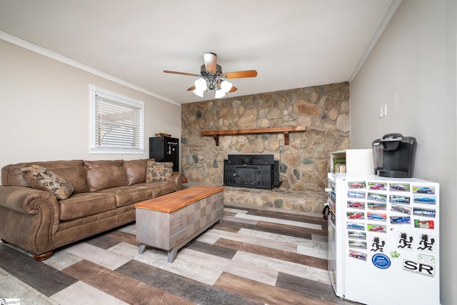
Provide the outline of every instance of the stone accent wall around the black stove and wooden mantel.
<path id="1" fill-rule="evenodd" d="M 211 94 L 211 93 L 209 93 Z M 228 154 L 274 154 L 280 159 L 280 189 L 321 192 L 330 152 L 349 148 L 347 82 L 214 99 L 181 106 L 181 171 L 191 183 L 222 185 Z M 306 126 L 305 132 L 212 136 L 201 131 Z"/>

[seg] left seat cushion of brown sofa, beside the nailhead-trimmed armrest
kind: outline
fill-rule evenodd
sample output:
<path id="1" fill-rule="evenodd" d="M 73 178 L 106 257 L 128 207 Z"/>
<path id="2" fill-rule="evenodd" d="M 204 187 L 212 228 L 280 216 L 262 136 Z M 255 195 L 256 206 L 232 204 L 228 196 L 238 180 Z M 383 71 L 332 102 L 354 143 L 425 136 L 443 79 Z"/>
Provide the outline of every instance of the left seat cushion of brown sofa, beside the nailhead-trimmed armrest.
<path id="1" fill-rule="evenodd" d="M 82 193 L 59 201 L 60 220 L 67 221 L 116 209 L 116 196 L 111 194 Z"/>

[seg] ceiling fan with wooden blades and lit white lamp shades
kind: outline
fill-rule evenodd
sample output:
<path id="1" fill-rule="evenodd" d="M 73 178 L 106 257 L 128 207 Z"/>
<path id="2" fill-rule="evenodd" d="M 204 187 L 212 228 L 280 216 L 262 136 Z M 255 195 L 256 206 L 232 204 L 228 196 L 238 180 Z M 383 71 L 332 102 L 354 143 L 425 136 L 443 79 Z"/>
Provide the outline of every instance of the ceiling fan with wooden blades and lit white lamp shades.
<path id="1" fill-rule="evenodd" d="M 204 63 L 200 67 L 200 74 L 192 74 L 185 72 L 176 72 L 164 70 L 165 73 L 171 74 L 180 74 L 187 76 L 196 76 L 199 77 L 194 83 L 194 86 L 191 86 L 188 91 L 193 91 L 194 94 L 203 97 L 205 92 L 208 90 L 214 90 L 214 97 L 219 99 L 226 96 L 227 92 L 236 91 L 236 86 L 233 86 L 231 82 L 226 81 L 226 79 L 243 79 L 246 77 L 256 77 L 256 70 L 246 70 L 246 71 L 235 71 L 235 72 L 222 72 L 222 67 L 219 64 L 216 64 L 217 56 L 212 52 L 205 52 L 203 54 Z"/>

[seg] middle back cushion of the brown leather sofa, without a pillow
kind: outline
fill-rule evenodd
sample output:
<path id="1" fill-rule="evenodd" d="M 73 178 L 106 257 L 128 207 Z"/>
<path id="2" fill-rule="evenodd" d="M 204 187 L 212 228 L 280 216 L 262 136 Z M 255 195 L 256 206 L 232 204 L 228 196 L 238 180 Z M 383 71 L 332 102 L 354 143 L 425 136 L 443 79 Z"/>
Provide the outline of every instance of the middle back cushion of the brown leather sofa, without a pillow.
<path id="1" fill-rule="evenodd" d="M 126 186 L 126 171 L 122 160 L 84 161 L 90 191 Z"/>

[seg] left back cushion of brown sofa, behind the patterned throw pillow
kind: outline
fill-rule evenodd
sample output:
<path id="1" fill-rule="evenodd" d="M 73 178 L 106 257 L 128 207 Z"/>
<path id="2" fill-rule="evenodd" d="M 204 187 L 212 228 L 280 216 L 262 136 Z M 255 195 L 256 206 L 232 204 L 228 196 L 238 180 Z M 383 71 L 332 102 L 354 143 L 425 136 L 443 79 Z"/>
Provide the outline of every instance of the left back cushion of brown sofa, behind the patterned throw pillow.
<path id="1" fill-rule="evenodd" d="M 4 186 L 29 186 L 24 179 L 21 169 L 31 165 L 43 166 L 65 179 L 73 186 L 74 193 L 86 193 L 89 187 L 86 183 L 86 167 L 82 160 L 71 161 L 36 161 L 9 164 L 1 169 L 1 184 Z"/>

